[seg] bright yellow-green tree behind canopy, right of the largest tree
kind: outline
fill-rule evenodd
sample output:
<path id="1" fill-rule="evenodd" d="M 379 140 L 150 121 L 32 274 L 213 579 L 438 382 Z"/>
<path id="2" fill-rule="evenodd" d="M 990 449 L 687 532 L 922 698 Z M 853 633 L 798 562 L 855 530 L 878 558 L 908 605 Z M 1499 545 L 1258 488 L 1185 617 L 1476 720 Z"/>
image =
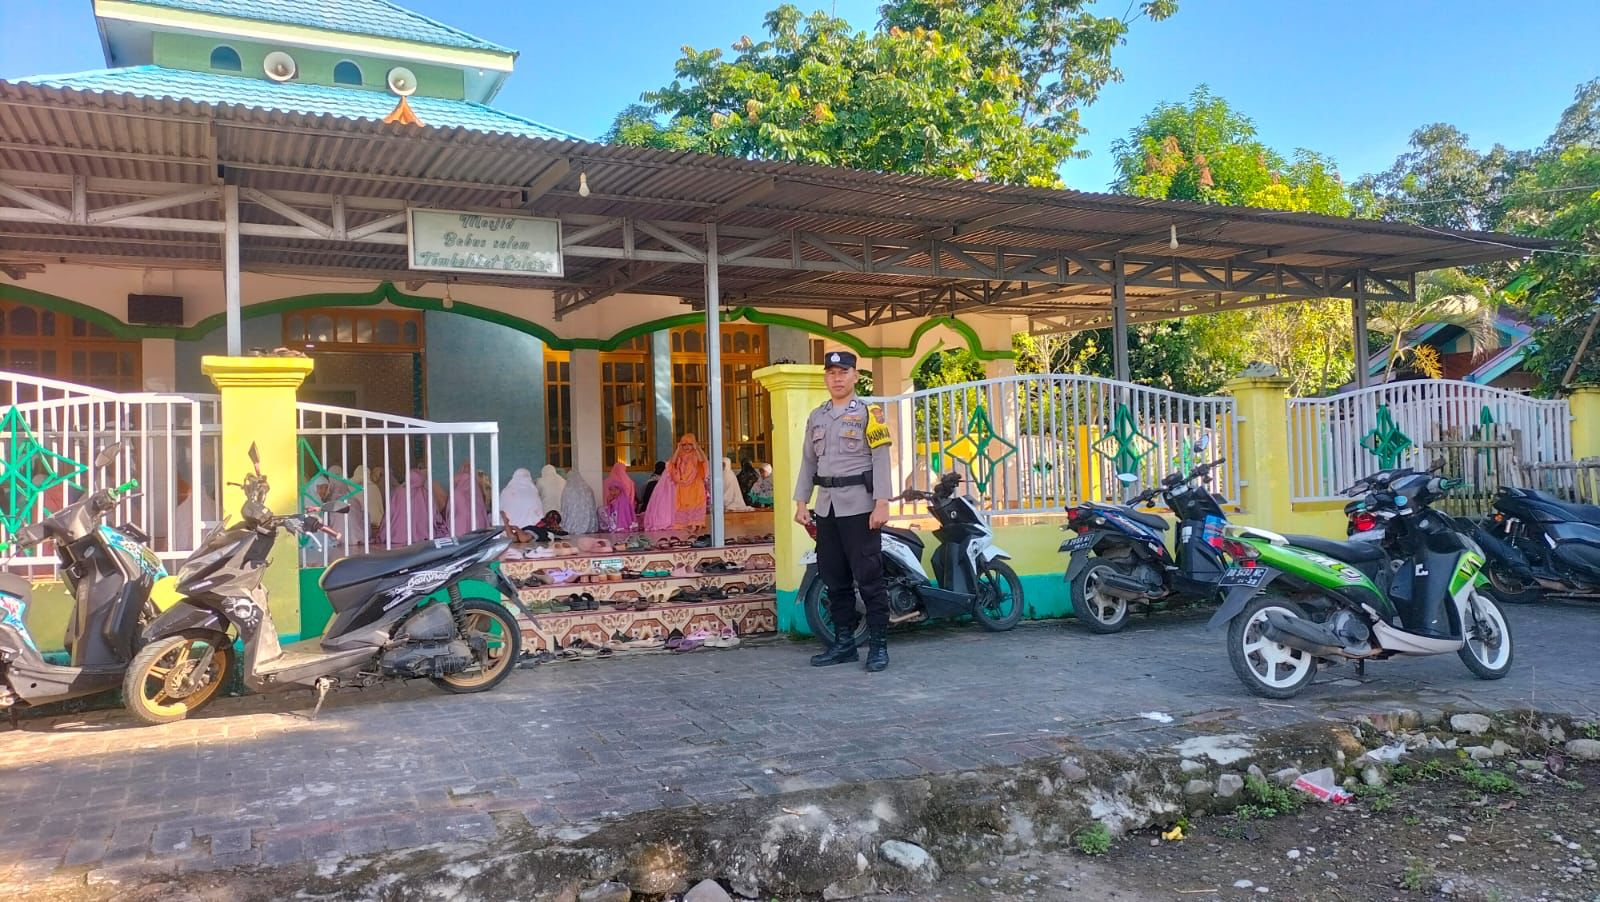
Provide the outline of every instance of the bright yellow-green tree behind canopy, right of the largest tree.
<path id="1" fill-rule="evenodd" d="M 1205 85 L 1187 101 L 1155 107 L 1112 152 L 1115 190 L 1125 194 L 1330 216 L 1354 210 L 1331 160 L 1274 150 L 1250 117 Z M 1317 393 L 1352 371 L 1352 349 L 1341 337 L 1349 321 L 1344 301 L 1301 301 L 1141 325 L 1130 334 L 1130 368 L 1136 382 L 1210 393 L 1259 360 L 1288 376 L 1296 392 Z M 1109 334 L 1086 341 L 1109 358 Z"/>

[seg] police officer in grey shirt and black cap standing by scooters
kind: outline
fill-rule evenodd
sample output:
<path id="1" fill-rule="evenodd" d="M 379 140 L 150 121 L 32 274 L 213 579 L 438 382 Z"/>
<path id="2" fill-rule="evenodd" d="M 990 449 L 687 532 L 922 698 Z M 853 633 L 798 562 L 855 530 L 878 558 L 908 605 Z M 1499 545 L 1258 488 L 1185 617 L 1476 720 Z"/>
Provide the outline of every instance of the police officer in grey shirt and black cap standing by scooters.
<path id="1" fill-rule="evenodd" d="M 829 400 L 805 424 L 795 521 L 810 526 L 816 488 L 816 566 L 827 585 L 834 645 L 813 667 L 856 661 L 856 590 L 867 606 L 867 670 L 890 665 L 890 600 L 878 528 L 890 520 L 890 430 L 883 411 L 856 397 L 856 355 L 822 358 Z"/>

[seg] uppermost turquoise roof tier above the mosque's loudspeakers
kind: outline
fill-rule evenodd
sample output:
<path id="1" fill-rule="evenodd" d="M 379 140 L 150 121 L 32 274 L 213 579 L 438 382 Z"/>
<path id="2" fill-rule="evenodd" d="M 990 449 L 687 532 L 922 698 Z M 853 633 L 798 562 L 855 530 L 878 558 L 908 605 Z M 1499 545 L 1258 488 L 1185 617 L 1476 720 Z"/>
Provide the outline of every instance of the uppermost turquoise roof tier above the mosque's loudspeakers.
<path id="1" fill-rule="evenodd" d="M 304 26 L 325 32 L 387 37 L 434 46 L 515 53 L 510 48 L 429 19 L 389 0 L 125 0 L 254 22 Z"/>

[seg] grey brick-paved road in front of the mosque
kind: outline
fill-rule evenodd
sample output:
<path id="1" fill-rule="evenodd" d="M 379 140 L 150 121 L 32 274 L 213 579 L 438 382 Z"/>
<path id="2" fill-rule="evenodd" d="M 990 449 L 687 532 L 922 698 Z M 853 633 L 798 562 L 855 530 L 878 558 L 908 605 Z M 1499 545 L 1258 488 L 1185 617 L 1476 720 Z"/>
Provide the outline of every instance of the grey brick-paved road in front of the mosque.
<path id="1" fill-rule="evenodd" d="M 1114 637 L 1070 621 L 1008 635 L 933 627 L 893 667 L 813 670 L 810 643 L 518 670 L 482 696 L 413 686 L 222 699 L 138 728 L 120 710 L 0 731 L 0 876 L 203 870 L 365 854 L 509 827 L 1016 764 L 1070 744 L 1171 740 L 1392 707 L 1600 713 L 1600 606 L 1507 611 L 1512 675 L 1454 657 L 1325 672 L 1290 704 L 1248 696 L 1203 614 Z M 1141 716 L 1166 712 L 1162 726 Z M 1187 728 L 1192 732 L 1192 726 Z"/>

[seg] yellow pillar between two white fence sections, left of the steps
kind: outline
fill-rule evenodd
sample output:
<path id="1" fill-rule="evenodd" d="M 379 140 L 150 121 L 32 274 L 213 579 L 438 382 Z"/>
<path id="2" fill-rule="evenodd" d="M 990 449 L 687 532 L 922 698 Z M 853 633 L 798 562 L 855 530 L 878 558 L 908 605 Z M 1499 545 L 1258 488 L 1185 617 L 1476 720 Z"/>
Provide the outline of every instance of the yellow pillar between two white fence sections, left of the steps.
<path id="1" fill-rule="evenodd" d="M 200 371 L 222 393 L 222 472 L 224 483 L 243 481 L 250 472 L 250 446 L 261 456 L 261 472 L 272 485 L 267 507 L 274 513 L 299 509 L 299 422 L 294 419 L 296 390 L 310 374 L 306 357 L 202 357 Z M 238 520 L 245 493 L 222 486 L 222 512 Z M 299 544 L 278 536 L 261 582 L 267 589 L 272 622 L 282 641 L 301 633 Z"/>

